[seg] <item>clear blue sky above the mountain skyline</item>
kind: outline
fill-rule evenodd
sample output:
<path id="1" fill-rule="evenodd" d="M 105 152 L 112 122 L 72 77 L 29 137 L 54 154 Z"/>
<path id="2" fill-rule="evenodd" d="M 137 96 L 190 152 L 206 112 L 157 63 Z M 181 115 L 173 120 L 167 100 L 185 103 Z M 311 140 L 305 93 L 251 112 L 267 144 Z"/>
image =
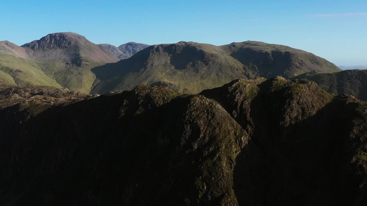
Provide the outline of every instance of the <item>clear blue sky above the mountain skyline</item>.
<path id="1" fill-rule="evenodd" d="M 283 44 L 337 65 L 367 65 L 367 0 L 0 0 L 0 40 L 75 32 L 100 44 L 246 40 Z"/>

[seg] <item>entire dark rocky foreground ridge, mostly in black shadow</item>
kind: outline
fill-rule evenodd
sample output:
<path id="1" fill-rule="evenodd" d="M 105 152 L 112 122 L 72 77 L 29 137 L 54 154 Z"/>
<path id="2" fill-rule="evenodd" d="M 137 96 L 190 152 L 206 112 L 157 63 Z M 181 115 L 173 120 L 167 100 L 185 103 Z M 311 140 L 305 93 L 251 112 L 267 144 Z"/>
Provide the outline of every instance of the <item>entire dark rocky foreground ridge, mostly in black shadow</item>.
<path id="1" fill-rule="evenodd" d="M 367 105 L 309 80 L 0 87 L 2 205 L 366 205 Z"/>

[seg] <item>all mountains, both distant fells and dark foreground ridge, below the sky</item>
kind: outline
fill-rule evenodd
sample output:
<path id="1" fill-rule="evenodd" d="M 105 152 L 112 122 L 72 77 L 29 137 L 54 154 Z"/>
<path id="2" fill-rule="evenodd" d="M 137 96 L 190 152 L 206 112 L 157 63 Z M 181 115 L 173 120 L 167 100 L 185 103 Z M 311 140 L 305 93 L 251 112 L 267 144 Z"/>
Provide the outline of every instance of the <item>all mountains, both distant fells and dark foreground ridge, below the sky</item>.
<path id="1" fill-rule="evenodd" d="M 0 205 L 367 205 L 366 88 L 257 41 L 0 41 Z"/>

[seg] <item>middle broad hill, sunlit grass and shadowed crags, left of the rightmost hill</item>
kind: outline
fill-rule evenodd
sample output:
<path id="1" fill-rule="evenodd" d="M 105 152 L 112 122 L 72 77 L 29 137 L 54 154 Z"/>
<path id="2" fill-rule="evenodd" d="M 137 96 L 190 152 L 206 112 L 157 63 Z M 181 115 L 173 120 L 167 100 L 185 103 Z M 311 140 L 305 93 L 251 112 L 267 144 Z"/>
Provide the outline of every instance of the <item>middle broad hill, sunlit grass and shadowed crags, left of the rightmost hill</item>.
<path id="1" fill-rule="evenodd" d="M 151 53 L 148 48 L 130 59 L 92 69 L 97 79 L 91 93 L 130 90 L 139 84 L 164 85 L 176 92 L 199 93 L 236 78 L 246 78 L 243 65 L 219 47 L 191 44 L 187 48 L 173 48 L 183 49 L 178 55 Z M 161 48 L 160 45 L 153 47 Z M 202 56 L 207 62 L 203 62 Z"/>

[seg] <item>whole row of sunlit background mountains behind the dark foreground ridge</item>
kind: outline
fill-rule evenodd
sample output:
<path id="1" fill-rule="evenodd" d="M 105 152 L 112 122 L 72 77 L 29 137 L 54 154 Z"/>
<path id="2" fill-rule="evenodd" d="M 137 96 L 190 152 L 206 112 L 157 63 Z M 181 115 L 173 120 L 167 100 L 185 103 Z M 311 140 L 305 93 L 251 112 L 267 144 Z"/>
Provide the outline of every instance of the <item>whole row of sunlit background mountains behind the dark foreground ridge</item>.
<path id="1" fill-rule="evenodd" d="M 182 41 L 115 47 L 96 45 L 79 34 L 64 32 L 21 47 L 0 42 L 0 80 L 19 86 L 64 87 L 85 94 L 121 92 L 139 84 L 199 93 L 238 78 L 288 78 L 313 70 L 341 71 L 309 52 L 255 41 L 223 46 Z"/>

